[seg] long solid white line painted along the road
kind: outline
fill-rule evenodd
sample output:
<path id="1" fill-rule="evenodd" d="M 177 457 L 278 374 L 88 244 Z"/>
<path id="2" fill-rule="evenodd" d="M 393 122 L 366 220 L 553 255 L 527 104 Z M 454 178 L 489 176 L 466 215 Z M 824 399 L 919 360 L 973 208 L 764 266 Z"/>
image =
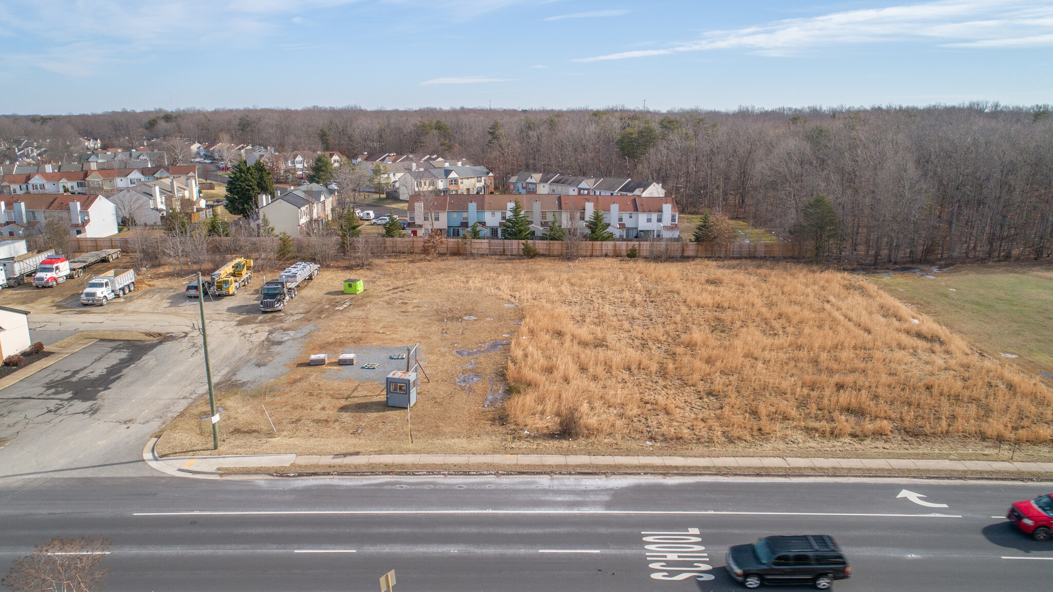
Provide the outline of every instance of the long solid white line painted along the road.
<path id="1" fill-rule="evenodd" d="M 958 514 L 863 514 L 836 512 L 717 512 L 676 510 L 277 510 L 277 511 L 232 511 L 232 512 L 135 512 L 133 516 L 280 516 L 280 515 L 418 515 L 418 514 L 617 514 L 617 515 L 691 515 L 707 514 L 729 516 L 857 516 L 879 518 L 960 518 Z"/>

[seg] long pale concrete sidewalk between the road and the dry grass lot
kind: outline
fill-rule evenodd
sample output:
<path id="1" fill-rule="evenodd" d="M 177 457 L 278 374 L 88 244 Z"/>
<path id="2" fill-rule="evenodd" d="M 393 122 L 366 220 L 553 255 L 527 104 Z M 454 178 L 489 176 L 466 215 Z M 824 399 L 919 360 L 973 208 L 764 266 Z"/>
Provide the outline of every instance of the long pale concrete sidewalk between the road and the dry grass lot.
<path id="1" fill-rule="evenodd" d="M 562 454 L 366 454 L 304 456 L 255 454 L 231 456 L 180 456 L 159 458 L 154 451 L 158 438 L 143 449 L 143 460 L 170 475 L 216 478 L 225 467 L 295 467 L 323 470 L 332 466 L 383 469 L 391 465 L 508 465 L 531 467 L 648 468 L 691 471 L 703 468 L 813 468 L 813 469 L 900 469 L 917 471 L 1004 471 L 1053 473 L 1053 462 L 1011 462 L 1006 460 L 911 460 L 907 458 L 794 458 L 757 456 L 587 456 Z M 438 469 L 439 467 L 436 467 Z"/>

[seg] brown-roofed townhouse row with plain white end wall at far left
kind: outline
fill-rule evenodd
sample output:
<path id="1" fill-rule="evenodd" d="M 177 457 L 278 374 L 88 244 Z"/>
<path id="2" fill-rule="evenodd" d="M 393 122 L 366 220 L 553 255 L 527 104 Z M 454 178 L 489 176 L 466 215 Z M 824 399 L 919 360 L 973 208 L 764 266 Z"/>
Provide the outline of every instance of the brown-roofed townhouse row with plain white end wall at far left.
<path id="1" fill-rule="evenodd" d="M 0 201 L 3 236 L 39 234 L 48 216 L 65 222 L 69 236 L 97 238 L 117 234 L 117 209 L 101 195 L 33 194 Z"/>

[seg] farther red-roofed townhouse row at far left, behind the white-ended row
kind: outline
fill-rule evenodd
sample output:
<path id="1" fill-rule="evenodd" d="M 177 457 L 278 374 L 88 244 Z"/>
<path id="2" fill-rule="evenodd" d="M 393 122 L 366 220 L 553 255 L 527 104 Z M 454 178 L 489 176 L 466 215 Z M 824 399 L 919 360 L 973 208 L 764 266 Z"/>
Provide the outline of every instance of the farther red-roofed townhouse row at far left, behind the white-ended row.
<path id="1" fill-rule="evenodd" d="M 65 170 L 63 170 L 65 169 Z M 37 172 L 19 172 L 0 177 L 0 194 L 102 194 L 108 195 L 138 183 L 159 179 L 176 179 L 195 188 L 198 184 L 197 166 L 146 166 L 140 169 L 93 169 L 91 163 L 81 170 L 59 164 L 43 164 Z M 197 190 L 195 189 L 195 192 Z"/>

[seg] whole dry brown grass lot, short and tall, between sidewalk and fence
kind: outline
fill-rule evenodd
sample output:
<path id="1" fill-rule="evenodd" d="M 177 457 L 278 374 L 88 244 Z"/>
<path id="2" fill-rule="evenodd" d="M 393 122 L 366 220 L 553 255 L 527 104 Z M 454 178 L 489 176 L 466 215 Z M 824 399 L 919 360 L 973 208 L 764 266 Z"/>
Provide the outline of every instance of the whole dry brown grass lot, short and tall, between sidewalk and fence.
<path id="1" fill-rule="evenodd" d="M 851 274 L 506 258 L 392 258 L 356 273 L 366 292 L 346 309 L 332 304 L 347 272 L 332 269 L 285 319 L 245 317 L 323 330 L 281 378 L 222 389 L 220 453 L 984 457 L 1018 441 L 1029 457 L 1049 456 L 1053 391 Z M 502 338 L 511 348 L 473 362 L 453 354 Z M 432 382 L 413 410 L 412 447 L 405 411 L 385 408 L 378 383 L 302 363 L 309 351 L 418 341 Z M 503 406 L 483 408 L 486 380 L 458 386 L 465 372 L 505 379 Z M 205 409 L 177 418 L 162 452 L 202 450 Z"/>

